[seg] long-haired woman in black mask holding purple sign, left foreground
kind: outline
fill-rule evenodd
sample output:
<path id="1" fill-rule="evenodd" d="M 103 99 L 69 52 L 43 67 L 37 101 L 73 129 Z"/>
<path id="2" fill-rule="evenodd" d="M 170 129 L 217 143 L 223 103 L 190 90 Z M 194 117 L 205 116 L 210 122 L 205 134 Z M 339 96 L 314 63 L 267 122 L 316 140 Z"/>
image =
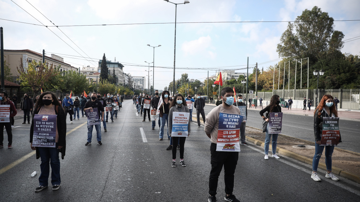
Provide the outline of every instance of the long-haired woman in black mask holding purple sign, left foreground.
<path id="1" fill-rule="evenodd" d="M 48 187 L 49 162 L 51 184 L 53 190 L 58 190 L 60 188 L 59 152 L 61 152 L 61 158 L 64 159 L 66 148 L 66 116 L 53 92 L 42 93 L 35 105 L 30 128 L 30 143 L 31 149 L 36 150 L 36 159 L 41 158 L 39 187 L 35 189 L 35 192 Z"/>

